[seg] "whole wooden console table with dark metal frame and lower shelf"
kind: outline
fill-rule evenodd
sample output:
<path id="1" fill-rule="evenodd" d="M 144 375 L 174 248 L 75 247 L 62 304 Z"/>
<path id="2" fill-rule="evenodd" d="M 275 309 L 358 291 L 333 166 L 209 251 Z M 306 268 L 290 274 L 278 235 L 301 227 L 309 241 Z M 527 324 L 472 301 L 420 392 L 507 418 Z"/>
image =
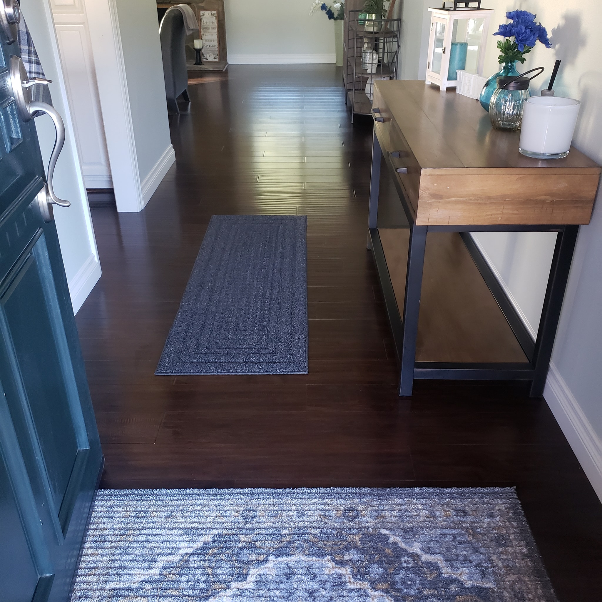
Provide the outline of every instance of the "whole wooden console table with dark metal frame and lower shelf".
<path id="1" fill-rule="evenodd" d="M 580 224 L 601 168 L 577 149 L 540 161 L 520 132 L 424 81 L 377 81 L 368 247 L 400 365 L 415 378 L 529 380 L 542 395 Z M 381 163 L 386 172 L 381 174 Z M 470 232 L 556 232 L 536 340 Z"/>

